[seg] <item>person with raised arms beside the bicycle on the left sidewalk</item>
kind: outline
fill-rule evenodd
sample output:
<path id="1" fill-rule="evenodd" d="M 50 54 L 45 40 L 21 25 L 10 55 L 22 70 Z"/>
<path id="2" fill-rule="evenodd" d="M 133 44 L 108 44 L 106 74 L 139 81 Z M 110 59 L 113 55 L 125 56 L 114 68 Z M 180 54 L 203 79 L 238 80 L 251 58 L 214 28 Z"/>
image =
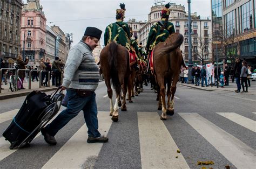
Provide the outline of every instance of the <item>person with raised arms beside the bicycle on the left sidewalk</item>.
<path id="1" fill-rule="evenodd" d="M 18 65 L 19 69 L 25 69 L 26 68 L 25 65 L 28 64 L 28 62 L 29 62 L 29 58 L 28 57 L 26 57 L 26 60 L 23 61 L 23 57 L 21 55 L 18 55 L 18 57 L 17 57 L 17 65 Z M 21 79 L 21 81 L 22 81 L 22 83 L 21 83 L 18 80 L 18 90 L 25 89 L 23 87 L 23 81 L 24 81 L 24 78 L 26 77 L 25 71 L 19 71 L 18 76 L 19 76 L 19 79 Z"/>

